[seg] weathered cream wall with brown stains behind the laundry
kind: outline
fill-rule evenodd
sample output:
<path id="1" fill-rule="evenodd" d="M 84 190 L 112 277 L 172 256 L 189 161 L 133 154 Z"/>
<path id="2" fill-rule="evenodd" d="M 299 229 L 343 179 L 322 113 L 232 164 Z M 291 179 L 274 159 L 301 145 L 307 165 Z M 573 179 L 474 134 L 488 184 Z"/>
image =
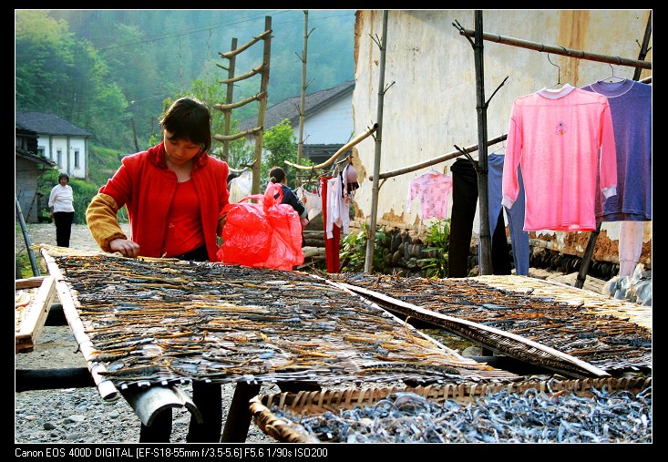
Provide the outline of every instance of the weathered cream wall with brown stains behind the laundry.
<path id="1" fill-rule="evenodd" d="M 578 11 L 513 11 L 486 10 L 483 14 L 485 32 L 510 36 L 550 46 L 565 46 L 609 56 L 637 58 L 642 43 L 648 10 L 578 10 Z M 400 169 L 453 151 L 454 145 L 478 144 L 478 113 L 476 109 L 476 74 L 474 53 L 465 36 L 452 26 L 455 21 L 473 29 L 473 10 L 391 10 L 387 23 L 385 54 L 385 92 L 383 109 L 382 151 L 380 172 Z M 355 92 L 353 110 L 355 134 L 362 133 L 377 118 L 380 50 L 372 37 L 382 36 L 382 11 L 360 10 L 355 24 Z M 652 46 L 652 43 L 650 43 Z M 606 63 L 550 55 L 560 66 L 560 83 L 582 87 L 592 81 L 609 77 Z M 652 50 L 646 56 L 652 61 Z M 488 138 L 508 131 L 513 100 L 550 87 L 558 81 L 558 69 L 550 64 L 548 55 L 517 46 L 484 42 L 484 77 L 486 99 L 509 77 L 491 99 L 488 111 Z M 633 76 L 632 67 L 614 67 L 618 76 Z M 651 76 L 643 70 L 641 78 Z M 492 152 L 498 147 L 491 147 Z M 355 196 L 359 221 L 368 221 L 371 212 L 375 143 L 367 139 L 356 146 L 355 168 L 361 188 Z M 473 156 L 477 158 L 476 155 Z M 454 162 L 434 168 L 449 173 Z M 406 195 L 410 180 L 427 169 L 416 170 L 385 180 L 379 190 L 377 222 L 419 233 L 419 206 L 406 212 Z M 449 199 L 451 208 L 452 199 Z M 474 232 L 478 232 L 478 217 Z M 616 252 L 619 223 L 604 223 L 599 240 L 601 252 Z M 559 236 L 559 234 L 568 234 Z M 579 236 L 581 235 L 581 236 Z M 589 233 L 556 233 L 541 231 L 538 239 L 582 241 Z M 645 237 L 652 238 L 651 222 Z M 607 240 L 607 241 L 606 241 Z M 563 244 L 560 250 L 571 252 L 577 246 Z M 597 246 L 597 250 L 599 246 Z M 651 263 L 650 251 L 644 251 L 643 262 Z M 575 250 L 572 252 L 577 253 Z M 581 254 L 581 252 L 580 252 Z M 613 261 L 616 255 L 605 259 Z"/>

